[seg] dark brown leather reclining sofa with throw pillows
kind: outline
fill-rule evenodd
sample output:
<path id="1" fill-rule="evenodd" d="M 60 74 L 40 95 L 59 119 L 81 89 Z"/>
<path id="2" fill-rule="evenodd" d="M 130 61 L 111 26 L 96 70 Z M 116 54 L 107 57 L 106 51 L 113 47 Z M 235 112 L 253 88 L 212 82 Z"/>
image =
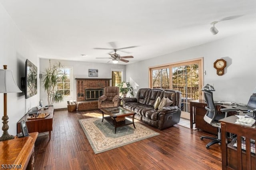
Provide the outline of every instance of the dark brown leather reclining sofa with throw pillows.
<path id="1" fill-rule="evenodd" d="M 154 109 L 156 99 L 169 98 L 170 106 Z M 167 89 L 139 89 L 136 97 L 123 98 L 123 107 L 136 112 L 135 118 L 160 130 L 180 122 L 181 92 Z"/>

